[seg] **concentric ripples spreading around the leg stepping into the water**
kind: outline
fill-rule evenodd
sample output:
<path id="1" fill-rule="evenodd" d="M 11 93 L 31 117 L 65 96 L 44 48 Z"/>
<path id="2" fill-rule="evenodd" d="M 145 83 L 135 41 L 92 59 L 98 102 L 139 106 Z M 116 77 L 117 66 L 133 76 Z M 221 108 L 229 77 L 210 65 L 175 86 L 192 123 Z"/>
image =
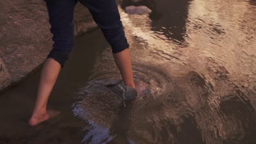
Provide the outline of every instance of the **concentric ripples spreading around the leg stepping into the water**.
<path id="1" fill-rule="evenodd" d="M 98 69 L 100 65 L 96 64 L 95 67 Z M 158 111 L 165 109 L 166 106 L 171 109 L 177 106 L 177 101 L 183 99 L 182 94 L 177 95 L 176 89 L 179 88 L 174 85 L 172 77 L 161 69 L 152 65 L 133 63 L 133 72 L 139 93 L 133 104 L 124 107 L 123 101 L 104 87 L 104 85 L 118 83 L 121 80 L 120 76 L 117 76 L 119 74 L 117 69 L 112 68 L 111 71 L 106 68 L 94 73 L 86 86 L 80 88 L 77 93 L 78 102 L 74 104 L 74 114 L 89 122 L 92 125 L 90 130 L 97 131 L 98 129 L 98 133 L 102 133 L 100 129 L 110 130 L 113 124 L 123 117 L 121 115 L 123 112 L 130 113 L 130 116 L 127 116 L 129 122 L 122 121 L 122 125 L 129 123 L 131 127 L 133 125 L 131 123 L 150 123 L 152 122 L 150 117 L 156 115 Z M 103 137 L 112 136 L 108 131 Z"/>

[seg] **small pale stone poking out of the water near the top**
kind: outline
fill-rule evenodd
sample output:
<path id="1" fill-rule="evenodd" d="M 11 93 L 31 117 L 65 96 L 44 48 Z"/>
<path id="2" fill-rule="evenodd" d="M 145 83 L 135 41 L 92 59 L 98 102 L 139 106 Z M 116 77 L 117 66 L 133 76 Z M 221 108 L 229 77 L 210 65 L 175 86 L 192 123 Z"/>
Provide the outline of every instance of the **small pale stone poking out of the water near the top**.
<path id="1" fill-rule="evenodd" d="M 135 6 L 129 6 L 129 7 L 125 7 L 125 13 L 127 14 L 137 14 L 137 15 L 143 15 L 143 14 L 148 14 L 151 13 L 152 10 L 150 10 L 148 7 L 144 6 L 144 5 L 140 5 L 138 7 Z"/>

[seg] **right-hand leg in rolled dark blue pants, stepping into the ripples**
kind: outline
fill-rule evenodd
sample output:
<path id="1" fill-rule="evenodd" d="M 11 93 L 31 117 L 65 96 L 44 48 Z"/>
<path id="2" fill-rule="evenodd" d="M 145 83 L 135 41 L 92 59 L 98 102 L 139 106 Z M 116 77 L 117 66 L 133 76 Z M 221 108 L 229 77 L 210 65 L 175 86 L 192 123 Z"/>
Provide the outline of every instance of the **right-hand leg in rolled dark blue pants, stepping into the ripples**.
<path id="1" fill-rule="evenodd" d="M 115 63 L 126 85 L 135 87 L 133 82 L 129 44 L 127 43 L 118 5 L 115 0 L 79 0 L 90 10 L 95 22 L 101 28 L 112 47 Z"/>

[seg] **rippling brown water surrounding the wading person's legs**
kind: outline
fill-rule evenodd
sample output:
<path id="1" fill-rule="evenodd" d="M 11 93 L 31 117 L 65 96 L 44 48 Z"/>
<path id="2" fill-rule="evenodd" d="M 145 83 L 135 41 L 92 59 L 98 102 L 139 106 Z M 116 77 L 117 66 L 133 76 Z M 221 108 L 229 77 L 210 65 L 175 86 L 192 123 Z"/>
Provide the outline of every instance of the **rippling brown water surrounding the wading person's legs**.
<path id="1" fill-rule="evenodd" d="M 5 143 L 256 143 L 256 2 L 120 1 L 135 82 L 123 102 L 103 85 L 121 77 L 99 30 L 77 38 L 49 107 L 30 128 L 39 71 L 1 94 Z M 127 15 L 146 5 L 149 15 Z"/>

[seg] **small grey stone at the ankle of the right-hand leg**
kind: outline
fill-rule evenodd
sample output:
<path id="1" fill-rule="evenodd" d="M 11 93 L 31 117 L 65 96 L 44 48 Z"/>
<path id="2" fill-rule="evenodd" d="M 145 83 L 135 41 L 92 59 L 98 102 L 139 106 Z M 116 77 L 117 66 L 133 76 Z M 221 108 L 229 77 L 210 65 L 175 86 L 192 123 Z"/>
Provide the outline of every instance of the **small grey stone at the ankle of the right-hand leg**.
<path id="1" fill-rule="evenodd" d="M 135 88 L 124 84 L 110 84 L 106 87 L 123 100 L 134 100 L 138 95 Z"/>

